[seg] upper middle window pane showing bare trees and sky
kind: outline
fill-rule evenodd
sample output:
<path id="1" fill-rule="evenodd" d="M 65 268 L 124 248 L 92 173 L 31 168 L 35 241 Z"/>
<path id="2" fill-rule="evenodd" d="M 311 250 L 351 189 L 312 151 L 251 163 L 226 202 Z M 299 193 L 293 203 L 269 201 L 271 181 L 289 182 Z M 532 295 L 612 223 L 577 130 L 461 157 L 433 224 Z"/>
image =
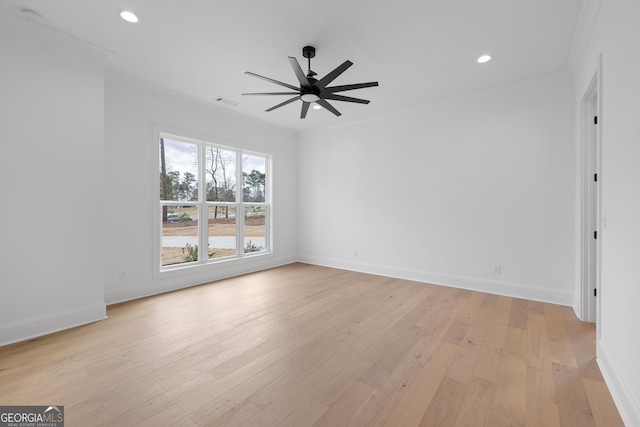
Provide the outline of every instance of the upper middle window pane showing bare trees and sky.
<path id="1" fill-rule="evenodd" d="M 207 177 L 207 201 L 236 201 L 236 153 L 205 147 L 204 170 Z"/>

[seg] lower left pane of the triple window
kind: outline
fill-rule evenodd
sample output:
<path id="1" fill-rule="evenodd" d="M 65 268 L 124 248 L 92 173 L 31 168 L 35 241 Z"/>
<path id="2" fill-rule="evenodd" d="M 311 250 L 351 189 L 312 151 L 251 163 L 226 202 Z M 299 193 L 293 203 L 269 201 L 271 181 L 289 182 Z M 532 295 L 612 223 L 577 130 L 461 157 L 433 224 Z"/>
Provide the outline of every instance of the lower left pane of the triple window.
<path id="1" fill-rule="evenodd" d="M 162 206 L 162 265 L 198 260 L 198 208 Z"/>

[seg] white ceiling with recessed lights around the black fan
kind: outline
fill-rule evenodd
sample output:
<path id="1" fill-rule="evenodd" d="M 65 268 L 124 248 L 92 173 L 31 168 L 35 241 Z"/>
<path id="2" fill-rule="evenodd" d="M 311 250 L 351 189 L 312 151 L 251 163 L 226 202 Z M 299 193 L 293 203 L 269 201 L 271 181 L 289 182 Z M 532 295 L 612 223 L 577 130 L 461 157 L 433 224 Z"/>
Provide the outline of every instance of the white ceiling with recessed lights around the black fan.
<path id="1" fill-rule="evenodd" d="M 40 14 L 45 25 L 113 52 L 106 69 L 294 130 L 347 123 L 437 99 L 566 70 L 584 0 L 0 0 L 0 10 Z M 140 15 L 131 24 L 117 14 Z M 332 101 L 265 112 L 286 90 L 245 71 L 298 86 L 287 60 L 314 46 L 319 77 L 351 60 L 332 85 L 378 81 Z M 478 64 L 488 53 L 493 60 Z M 238 105 L 216 101 L 218 98 Z"/>

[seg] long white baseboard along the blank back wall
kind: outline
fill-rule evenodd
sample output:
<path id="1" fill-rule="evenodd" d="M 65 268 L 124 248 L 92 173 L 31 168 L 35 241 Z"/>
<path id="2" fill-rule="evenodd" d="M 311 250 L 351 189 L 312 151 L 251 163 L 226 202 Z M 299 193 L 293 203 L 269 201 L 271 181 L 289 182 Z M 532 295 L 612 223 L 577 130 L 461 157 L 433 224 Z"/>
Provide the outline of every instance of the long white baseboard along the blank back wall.
<path id="1" fill-rule="evenodd" d="M 432 283 L 434 285 L 450 286 L 453 288 L 487 292 L 490 294 L 549 302 L 552 304 L 565 306 L 573 305 L 573 295 L 570 292 L 559 292 L 548 288 L 536 288 L 520 283 L 501 282 L 497 280 L 487 280 L 476 277 L 456 276 L 434 273 L 431 271 L 400 269 L 380 264 L 346 262 L 339 259 L 306 255 L 298 256 L 298 261 L 308 264 L 322 265 L 325 267 L 376 274 L 379 276 L 415 280 L 417 282 Z"/>

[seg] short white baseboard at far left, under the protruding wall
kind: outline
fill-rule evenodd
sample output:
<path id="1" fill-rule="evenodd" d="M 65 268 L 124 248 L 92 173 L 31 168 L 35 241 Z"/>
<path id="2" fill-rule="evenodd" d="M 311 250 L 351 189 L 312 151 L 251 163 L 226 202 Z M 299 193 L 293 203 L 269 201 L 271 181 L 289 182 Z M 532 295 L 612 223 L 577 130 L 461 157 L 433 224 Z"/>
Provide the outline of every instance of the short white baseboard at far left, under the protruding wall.
<path id="1" fill-rule="evenodd" d="M 104 302 L 90 307 L 19 320 L 0 325 L 0 346 L 75 328 L 107 318 Z"/>

